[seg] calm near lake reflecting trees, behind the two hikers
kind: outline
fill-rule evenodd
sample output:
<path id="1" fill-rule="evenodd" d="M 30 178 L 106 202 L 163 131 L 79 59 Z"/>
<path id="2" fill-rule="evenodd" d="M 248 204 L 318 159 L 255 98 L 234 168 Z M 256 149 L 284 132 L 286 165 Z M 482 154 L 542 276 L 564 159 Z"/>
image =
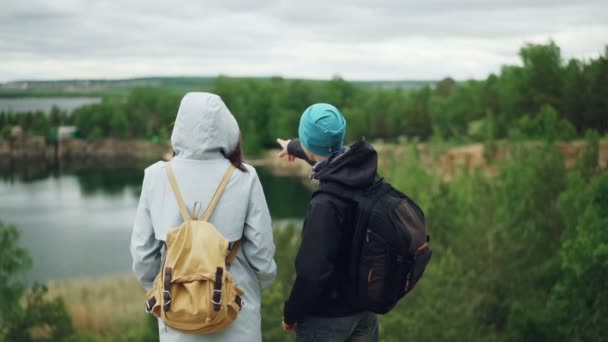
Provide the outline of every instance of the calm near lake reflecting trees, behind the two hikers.
<path id="1" fill-rule="evenodd" d="M 310 190 L 257 168 L 273 222 L 298 222 Z M 131 272 L 129 243 L 142 168 L 0 171 L 0 221 L 14 224 L 33 260 L 29 281 Z"/>

